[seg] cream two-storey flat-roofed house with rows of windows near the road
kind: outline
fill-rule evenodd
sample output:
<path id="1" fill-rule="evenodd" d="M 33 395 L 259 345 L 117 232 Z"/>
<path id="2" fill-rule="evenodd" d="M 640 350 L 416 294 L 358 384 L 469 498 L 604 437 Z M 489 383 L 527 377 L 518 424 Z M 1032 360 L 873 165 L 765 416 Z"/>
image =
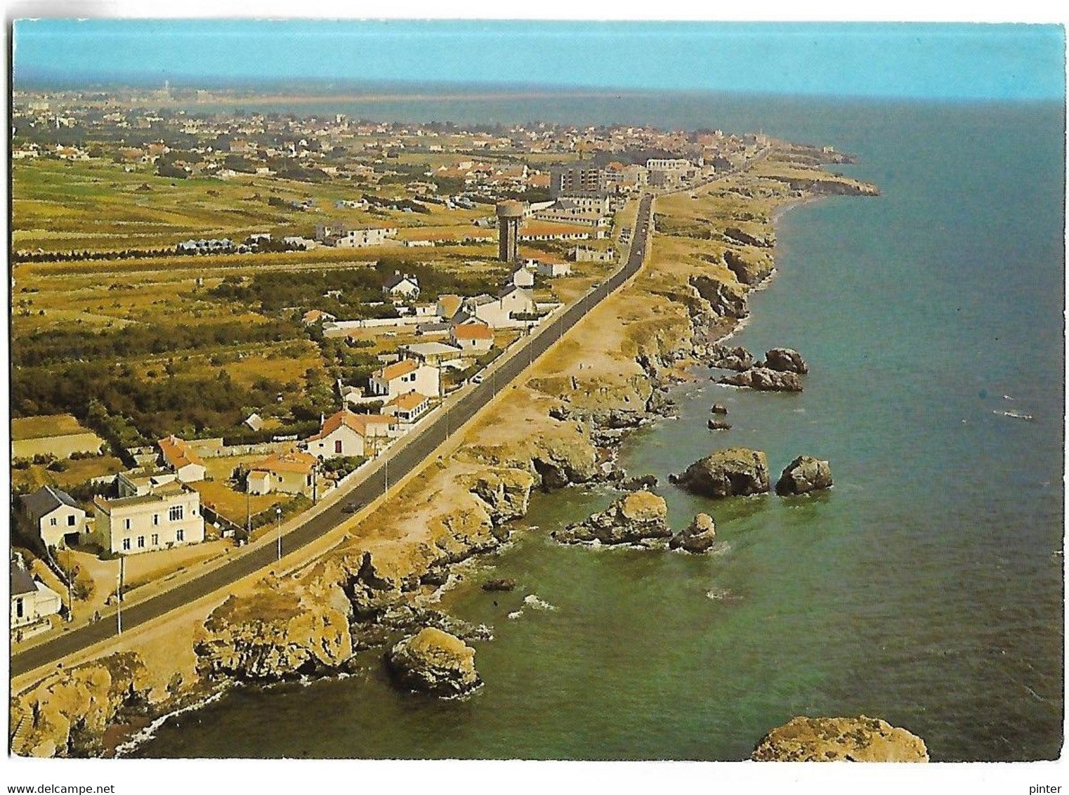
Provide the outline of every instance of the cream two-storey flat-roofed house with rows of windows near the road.
<path id="1" fill-rule="evenodd" d="M 93 499 L 96 543 L 106 552 L 135 555 L 204 541 L 200 495 L 168 483 L 146 495 Z"/>

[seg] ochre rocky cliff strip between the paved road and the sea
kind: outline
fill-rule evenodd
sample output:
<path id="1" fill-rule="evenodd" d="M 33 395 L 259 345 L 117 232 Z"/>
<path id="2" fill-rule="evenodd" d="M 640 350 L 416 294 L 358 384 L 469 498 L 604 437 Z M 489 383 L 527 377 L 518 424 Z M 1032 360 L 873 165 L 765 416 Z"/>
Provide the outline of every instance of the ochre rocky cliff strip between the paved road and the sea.
<path id="1" fill-rule="evenodd" d="M 709 363 L 746 318 L 748 293 L 774 272 L 776 214 L 823 196 L 878 193 L 824 168 L 843 161 L 775 142 L 742 173 L 657 198 L 656 235 L 637 277 L 370 516 L 343 526 L 296 571 L 243 581 L 170 617 L 166 629 L 124 636 L 95 659 L 20 683 L 11 705 L 13 752 L 107 755 L 154 718 L 236 682 L 336 675 L 367 665 L 369 653 L 381 651 L 384 660 L 405 639 L 425 640 L 428 628 L 458 641 L 435 636 L 438 669 L 476 682 L 467 643 L 492 629 L 435 607 L 456 579 L 454 565 L 506 543 L 534 488 L 636 487 L 616 464 L 621 438 L 670 414 L 669 387 Z M 451 653 L 454 666 L 441 659 Z M 399 684 L 425 679 L 406 671 Z"/>

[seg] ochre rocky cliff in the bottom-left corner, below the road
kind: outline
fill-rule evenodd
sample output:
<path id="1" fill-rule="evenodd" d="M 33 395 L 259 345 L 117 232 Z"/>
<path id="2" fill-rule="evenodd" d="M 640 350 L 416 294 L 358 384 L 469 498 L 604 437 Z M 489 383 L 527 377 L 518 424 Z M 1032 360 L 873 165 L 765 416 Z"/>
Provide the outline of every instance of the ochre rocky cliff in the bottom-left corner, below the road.
<path id="1" fill-rule="evenodd" d="M 98 757 L 104 732 L 124 714 L 143 715 L 152 693 L 134 652 L 60 670 L 12 700 L 11 750 L 19 757 Z"/>

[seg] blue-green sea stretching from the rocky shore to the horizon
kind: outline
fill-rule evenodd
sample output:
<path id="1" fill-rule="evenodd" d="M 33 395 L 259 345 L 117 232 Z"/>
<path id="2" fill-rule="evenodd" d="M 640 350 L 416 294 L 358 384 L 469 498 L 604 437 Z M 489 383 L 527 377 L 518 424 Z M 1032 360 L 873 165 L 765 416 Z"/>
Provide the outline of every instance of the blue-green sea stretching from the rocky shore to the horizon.
<path id="1" fill-rule="evenodd" d="M 792 716 L 862 713 L 919 734 L 934 760 L 1060 754 L 1062 105 L 681 94 L 327 111 L 763 129 L 856 154 L 843 170 L 883 194 L 779 224 L 778 275 L 735 339 L 801 350 L 804 393 L 699 373 L 676 394 L 679 418 L 623 450 L 629 471 L 661 479 L 673 526 L 713 515 L 721 554 L 557 546 L 549 530 L 613 495 L 539 495 L 492 573 L 471 570 L 446 598 L 495 627 L 476 644 L 486 684 L 470 698 L 397 692 L 372 665 L 238 689 L 136 755 L 738 760 Z M 706 430 L 713 402 L 731 431 Z M 713 502 L 667 484 L 729 445 L 764 450 L 776 473 L 801 453 L 828 458 L 835 488 Z M 489 576 L 520 588 L 483 593 Z"/>

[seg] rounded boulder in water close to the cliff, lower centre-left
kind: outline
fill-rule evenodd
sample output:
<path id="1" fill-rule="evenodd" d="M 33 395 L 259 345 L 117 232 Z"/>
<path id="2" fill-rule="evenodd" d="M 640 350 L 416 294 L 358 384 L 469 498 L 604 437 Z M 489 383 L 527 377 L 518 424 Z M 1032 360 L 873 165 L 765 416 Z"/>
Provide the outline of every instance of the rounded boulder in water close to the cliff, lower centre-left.
<path id="1" fill-rule="evenodd" d="M 398 684 L 439 698 L 463 696 L 482 684 L 475 670 L 475 649 L 430 626 L 400 641 L 386 660 Z"/>

